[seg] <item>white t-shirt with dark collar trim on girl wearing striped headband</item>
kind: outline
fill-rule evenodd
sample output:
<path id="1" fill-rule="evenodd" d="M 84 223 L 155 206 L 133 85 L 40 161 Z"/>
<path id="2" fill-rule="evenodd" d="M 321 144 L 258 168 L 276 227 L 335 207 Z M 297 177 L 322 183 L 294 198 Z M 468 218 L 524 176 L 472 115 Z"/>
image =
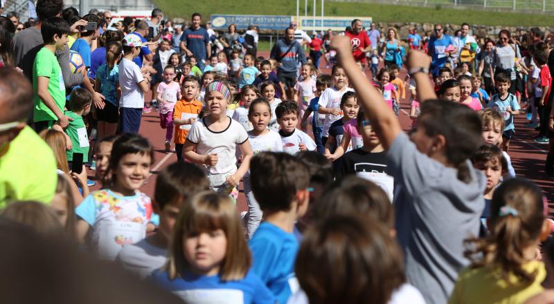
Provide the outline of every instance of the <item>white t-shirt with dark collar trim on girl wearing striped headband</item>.
<path id="1" fill-rule="evenodd" d="M 214 132 L 208 129 L 206 117 L 197 120 L 188 131 L 186 140 L 197 144 L 196 153 L 208 155 L 217 153 L 215 166 L 204 165 L 208 175 L 232 175 L 237 171 L 235 152 L 237 144 L 248 140 L 247 131 L 235 120 L 229 117 L 229 125 L 224 131 Z"/>

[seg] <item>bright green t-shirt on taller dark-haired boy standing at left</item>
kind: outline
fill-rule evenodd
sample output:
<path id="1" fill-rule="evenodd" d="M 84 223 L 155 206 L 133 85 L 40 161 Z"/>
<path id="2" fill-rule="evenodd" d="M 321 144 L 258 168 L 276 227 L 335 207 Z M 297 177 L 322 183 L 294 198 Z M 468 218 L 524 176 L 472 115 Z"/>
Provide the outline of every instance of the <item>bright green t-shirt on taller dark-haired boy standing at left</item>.
<path id="1" fill-rule="evenodd" d="M 56 115 L 42 102 L 37 94 L 39 76 L 48 77 L 48 93 L 54 99 L 54 102 L 63 112 L 65 107 L 65 84 L 62 76 L 62 69 L 54 53 L 48 48 L 41 48 L 35 62 L 33 63 L 33 93 L 35 101 L 35 110 L 33 111 L 33 122 L 44 122 L 45 120 L 57 120 Z"/>

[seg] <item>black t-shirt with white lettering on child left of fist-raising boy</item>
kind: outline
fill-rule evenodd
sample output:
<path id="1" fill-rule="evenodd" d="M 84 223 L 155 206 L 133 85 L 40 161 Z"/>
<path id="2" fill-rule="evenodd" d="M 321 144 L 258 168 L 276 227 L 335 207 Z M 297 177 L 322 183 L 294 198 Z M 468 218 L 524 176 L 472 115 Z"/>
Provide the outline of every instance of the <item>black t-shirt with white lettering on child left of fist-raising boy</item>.
<path id="1" fill-rule="evenodd" d="M 370 153 L 361 148 L 345 153 L 337 171 L 337 179 L 357 172 L 388 173 L 386 167 L 386 152 Z"/>

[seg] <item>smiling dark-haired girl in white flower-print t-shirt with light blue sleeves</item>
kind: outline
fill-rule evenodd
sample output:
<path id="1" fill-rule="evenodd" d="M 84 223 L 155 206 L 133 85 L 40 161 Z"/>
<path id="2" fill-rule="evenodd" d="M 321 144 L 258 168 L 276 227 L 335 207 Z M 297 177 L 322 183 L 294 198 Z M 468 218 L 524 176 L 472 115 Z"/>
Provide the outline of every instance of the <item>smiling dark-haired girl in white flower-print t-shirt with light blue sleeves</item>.
<path id="1" fill-rule="evenodd" d="M 111 151 L 106 189 L 90 193 L 75 209 L 78 238 L 90 231 L 89 247 L 101 260 L 114 260 L 124 245 L 145 238 L 152 203 L 139 188 L 150 173 L 152 153 L 144 137 L 121 135 Z"/>

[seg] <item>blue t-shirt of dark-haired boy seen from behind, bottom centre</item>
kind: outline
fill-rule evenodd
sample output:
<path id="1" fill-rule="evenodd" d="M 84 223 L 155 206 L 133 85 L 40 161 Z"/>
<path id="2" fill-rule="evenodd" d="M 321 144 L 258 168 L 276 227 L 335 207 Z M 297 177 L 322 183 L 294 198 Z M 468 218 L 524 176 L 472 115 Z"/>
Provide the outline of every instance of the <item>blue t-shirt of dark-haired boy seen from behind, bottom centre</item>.
<path id="1" fill-rule="evenodd" d="M 276 296 L 278 303 L 287 303 L 298 290 L 294 274 L 294 260 L 298 253 L 298 240 L 276 225 L 262 222 L 249 240 L 252 250 L 252 272 L 262 279 Z"/>

